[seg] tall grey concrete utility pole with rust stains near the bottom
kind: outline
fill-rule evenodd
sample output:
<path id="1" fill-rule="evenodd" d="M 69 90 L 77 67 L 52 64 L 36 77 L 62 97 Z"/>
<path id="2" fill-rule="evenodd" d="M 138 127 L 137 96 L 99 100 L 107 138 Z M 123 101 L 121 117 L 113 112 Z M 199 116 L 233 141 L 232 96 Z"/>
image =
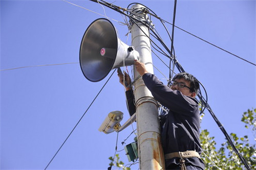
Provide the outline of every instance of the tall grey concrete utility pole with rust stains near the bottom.
<path id="1" fill-rule="evenodd" d="M 135 17 L 146 20 L 144 6 L 136 4 L 132 8 L 135 9 L 134 12 L 143 16 Z M 148 27 L 139 22 L 137 23 L 139 27 L 132 21 L 131 24 L 132 45 L 139 52 L 140 61 L 145 63 L 147 71 L 153 74 L 150 39 L 147 37 L 150 35 Z M 138 76 L 138 72 L 134 71 L 134 78 Z M 157 102 L 153 99 L 150 90 L 146 88 L 142 78 L 138 79 L 134 86 L 140 169 L 164 169 Z"/>

